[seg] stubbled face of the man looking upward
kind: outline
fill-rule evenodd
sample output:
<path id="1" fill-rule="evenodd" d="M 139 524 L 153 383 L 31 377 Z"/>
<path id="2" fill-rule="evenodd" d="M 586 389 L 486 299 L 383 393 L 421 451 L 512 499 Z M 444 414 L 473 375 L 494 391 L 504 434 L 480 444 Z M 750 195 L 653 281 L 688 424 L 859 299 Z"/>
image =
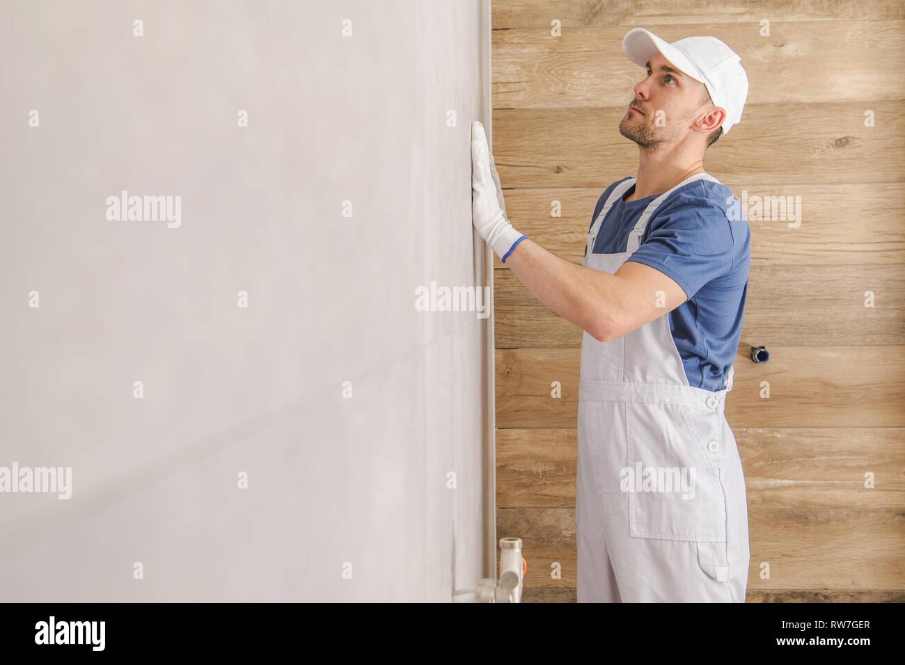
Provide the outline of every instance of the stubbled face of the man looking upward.
<path id="1" fill-rule="evenodd" d="M 696 121 L 713 109 L 710 98 L 704 98 L 706 90 L 703 83 L 678 71 L 661 53 L 654 53 L 647 63 L 647 78 L 634 86 L 634 99 L 619 123 L 619 132 L 647 149 L 667 141 L 679 143 L 694 131 Z M 632 107 L 641 109 L 643 115 Z M 700 132 L 703 140 L 708 133 Z"/>

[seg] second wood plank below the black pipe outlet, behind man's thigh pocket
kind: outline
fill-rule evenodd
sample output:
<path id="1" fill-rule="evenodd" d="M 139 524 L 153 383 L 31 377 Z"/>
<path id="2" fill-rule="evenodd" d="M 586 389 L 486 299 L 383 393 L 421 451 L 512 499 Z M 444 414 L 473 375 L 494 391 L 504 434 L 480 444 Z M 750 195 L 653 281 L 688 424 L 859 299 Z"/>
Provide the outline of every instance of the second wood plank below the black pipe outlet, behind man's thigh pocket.
<path id="1" fill-rule="evenodd" d="M 905 509 L 905 429 L 736 427 L 749 508 Z M 575 508 L 574 428 L 497 432 L 497 508 Z M 872 473 L 872 489 L 865 474 Z"/>

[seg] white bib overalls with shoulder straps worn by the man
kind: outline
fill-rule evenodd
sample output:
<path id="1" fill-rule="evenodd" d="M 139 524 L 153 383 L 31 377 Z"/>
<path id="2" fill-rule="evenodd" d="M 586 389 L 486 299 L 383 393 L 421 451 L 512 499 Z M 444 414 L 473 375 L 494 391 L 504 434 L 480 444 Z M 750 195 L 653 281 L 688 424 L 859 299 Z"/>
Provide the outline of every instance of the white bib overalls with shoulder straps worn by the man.
<path id="1" fill-rule="evenodd" d="M 657 197 L 625 252 L 594 254 L 606 213 L 631 187 L 617 185 L 587 235 L 586 268 L 614 273 L 640 246 L 653 211 L 696 174 Z M 722 390 L 689 385 L 669 313 L 581 345 L 576 536 L 579 603 L 743 603 L 748 504 Z M 631 478 L 629 478 L 631 477 Z M 628 480 L 649 480 L 650 484 Z M 684 481 L 682 480 L 684 479 Z M 632 490 L 633 489 L 633 490 Z"/>

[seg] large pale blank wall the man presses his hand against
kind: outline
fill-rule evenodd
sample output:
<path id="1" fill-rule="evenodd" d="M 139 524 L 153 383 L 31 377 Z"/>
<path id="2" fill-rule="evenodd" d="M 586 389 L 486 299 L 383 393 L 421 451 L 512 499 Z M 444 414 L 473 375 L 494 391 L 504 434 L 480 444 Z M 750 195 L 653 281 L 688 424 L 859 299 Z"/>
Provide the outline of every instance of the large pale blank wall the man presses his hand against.
<path id="1" fill-rule="evenodd" d="M 485 10 L 3 5 L 0 466 L 73 477 L 0 493 L 0 601 L 449 602 L 491 575 L 489 319 L 414 308 L 486 279 Z M 181 224 L 109 221 L 124 189 Z"/>

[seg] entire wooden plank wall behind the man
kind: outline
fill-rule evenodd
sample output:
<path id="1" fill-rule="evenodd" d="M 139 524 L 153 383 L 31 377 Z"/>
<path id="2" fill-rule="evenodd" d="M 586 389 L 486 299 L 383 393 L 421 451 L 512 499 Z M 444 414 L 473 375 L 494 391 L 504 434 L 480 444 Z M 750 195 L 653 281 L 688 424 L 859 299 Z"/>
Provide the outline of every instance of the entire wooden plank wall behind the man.
<path id="1" fill-rule="evenodd" d="M 905 601 L 905 5 L 494 0 L 507 209 L 569 261 L 605 186 L 636 172 L 618 122 L 643 76 L 622 52 L 637 26 L 670 42 L 712 34 L 741 55 L 744 116 L 705 167 L 739 197 L 801 202 L 797 228 L 748 214 L 727 408 L 748 487 L 748 602 Z M 496 267 L 498 536 L 524 540 L 525 602 L 574 602 L 581 331 Z M 770 362 L 750 362 L 751 345 Z"/>

